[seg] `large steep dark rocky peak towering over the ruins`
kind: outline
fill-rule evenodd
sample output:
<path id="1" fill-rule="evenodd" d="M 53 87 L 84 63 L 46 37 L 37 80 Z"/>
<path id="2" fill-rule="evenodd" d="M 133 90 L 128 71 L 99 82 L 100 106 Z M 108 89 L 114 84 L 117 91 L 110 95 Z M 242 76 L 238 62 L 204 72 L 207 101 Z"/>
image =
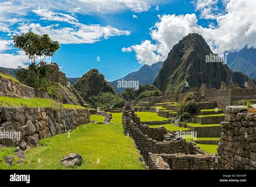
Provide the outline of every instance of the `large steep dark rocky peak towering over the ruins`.
<path id="1" fill-rule="evenodd" d="M 160 69 L 154 85 L 162 92 L 180 91 L 188 88 L 220 88 L 221 82 L 232 80 L 240 87 L 249 77 L 240 72 L 233 72 L 221 62 L 207 62 L 207 56 L 215 56 L 204 38 L 191 33 L 174 45 L 169 52 L 163 67 Z"/>

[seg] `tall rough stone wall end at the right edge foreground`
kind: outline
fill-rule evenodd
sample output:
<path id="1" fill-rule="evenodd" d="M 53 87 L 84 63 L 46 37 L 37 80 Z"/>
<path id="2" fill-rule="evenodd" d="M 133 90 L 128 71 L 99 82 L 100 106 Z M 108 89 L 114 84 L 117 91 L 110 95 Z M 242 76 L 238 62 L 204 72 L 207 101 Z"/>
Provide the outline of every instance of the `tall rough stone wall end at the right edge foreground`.
<path id="1" fill-rule="evenodd" d="M 245 106 L 226 106 L 226 112 L 217 169 L 256 169 L 256 114 Z"/>

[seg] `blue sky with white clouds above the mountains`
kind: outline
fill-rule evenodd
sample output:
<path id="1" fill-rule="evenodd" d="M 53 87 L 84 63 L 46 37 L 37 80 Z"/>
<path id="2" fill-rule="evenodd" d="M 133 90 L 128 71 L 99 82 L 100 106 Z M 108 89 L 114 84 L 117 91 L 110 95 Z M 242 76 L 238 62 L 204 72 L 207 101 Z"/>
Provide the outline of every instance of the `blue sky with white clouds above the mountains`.
<path id="1" fill-rule="evenodd" d="M 212 51 L 256 46 L 255 0 L 0 0 L 0 66 L 26 67 L 13 35 L 48 34 L 60 44 L 52 57 L 68 77 L 99 69 L 117 80 L 144 64 L 164 61 L 188 33 Z"/>

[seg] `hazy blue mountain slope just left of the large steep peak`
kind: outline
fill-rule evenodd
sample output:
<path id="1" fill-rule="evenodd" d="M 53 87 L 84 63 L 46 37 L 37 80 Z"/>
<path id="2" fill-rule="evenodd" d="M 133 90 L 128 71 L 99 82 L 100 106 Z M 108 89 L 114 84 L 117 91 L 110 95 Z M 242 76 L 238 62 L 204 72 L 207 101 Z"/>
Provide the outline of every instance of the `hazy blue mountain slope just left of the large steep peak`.
<path id="1" fill-rule="evenodd" d="M 164 62 L 157 62 L 151 66 L 145 64 L 138 71 L 134 71 L 123 78 L 119 78 L 116 81 L 109 82 L 114 90 L 118 93 L 124 92 L 126 88 L 118 88 L 118 81 L 139 81 L 139 85 L 152 84 L 158 74 L 159 69 L 163 66 Z"/>

